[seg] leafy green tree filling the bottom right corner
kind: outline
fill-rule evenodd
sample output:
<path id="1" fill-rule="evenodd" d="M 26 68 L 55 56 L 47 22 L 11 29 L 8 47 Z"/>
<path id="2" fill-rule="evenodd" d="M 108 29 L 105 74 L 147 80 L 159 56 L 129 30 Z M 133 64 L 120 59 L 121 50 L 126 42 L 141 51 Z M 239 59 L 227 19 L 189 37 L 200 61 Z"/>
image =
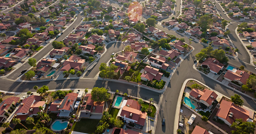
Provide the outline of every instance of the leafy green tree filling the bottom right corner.
<path id="1" fill-rule="evenodd" d="M 231 130 L 232 134 L 254 134 L 255 123 L 243 122 L 243 119 L 236 118 L 231 127 L 235 128 L 235 130 Z"/>

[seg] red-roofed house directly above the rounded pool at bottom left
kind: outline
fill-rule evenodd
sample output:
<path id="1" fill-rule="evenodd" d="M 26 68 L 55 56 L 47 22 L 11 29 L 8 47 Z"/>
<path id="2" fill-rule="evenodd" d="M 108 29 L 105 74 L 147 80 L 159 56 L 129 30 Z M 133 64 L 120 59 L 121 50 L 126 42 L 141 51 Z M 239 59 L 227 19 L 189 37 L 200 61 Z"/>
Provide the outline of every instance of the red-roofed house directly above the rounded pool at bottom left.
<path id="1" fill-rule="evenodd" d="M 52 113 L 59 113 L 59 117 L 68 117 L 69 114 L 74 110 L 77 93 L 68 93 L 64 99 L 55 99 L 49 108 Z"/>

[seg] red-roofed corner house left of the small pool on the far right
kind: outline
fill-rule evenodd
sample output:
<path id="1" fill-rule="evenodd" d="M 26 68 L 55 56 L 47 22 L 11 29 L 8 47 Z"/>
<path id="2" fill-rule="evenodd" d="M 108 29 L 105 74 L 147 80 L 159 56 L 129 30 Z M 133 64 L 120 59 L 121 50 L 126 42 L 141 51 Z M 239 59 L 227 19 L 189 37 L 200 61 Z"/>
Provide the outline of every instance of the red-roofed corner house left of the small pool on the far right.
<path id="1" fill-rule="evenodd" d="M 217 74 L 220 70 L 223 69 L 224 64 L 220 63 L 215 58 L 208 58 L 202 63 L 202 67 L 210 69 L 210 72 Z"/>

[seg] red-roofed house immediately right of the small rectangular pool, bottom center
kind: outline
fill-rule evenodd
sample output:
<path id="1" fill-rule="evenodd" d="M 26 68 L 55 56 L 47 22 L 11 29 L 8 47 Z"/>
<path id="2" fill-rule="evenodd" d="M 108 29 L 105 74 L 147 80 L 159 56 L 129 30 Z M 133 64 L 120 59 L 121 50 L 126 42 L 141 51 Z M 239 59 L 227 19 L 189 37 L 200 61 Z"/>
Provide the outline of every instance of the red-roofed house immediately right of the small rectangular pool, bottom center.
<path id="1" fill-rule="evenodd" d="M 140 109 L 140 104 L 137 101 L 128 99 L 125 106 L 123 106 L 120 110 L 120 115 L 124 121 L 127 123 L 134 123 L 140 126 L 144 126 L 145 120 L 147 117 L 146 112 L 142 112 Z"/>

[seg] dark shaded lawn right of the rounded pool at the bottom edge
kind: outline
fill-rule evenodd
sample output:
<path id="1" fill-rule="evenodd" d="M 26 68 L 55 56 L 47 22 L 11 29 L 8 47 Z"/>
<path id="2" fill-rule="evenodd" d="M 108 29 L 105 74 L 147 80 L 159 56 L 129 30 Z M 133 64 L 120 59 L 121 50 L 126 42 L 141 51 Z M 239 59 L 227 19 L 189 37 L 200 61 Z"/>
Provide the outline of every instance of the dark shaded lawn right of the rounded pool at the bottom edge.
<path id="1" fill-rule="evenodd" d="M 97 129 L 97 124 L 100 122 L 99 119 L 86 119 L 81 118 L 79 122 L 75 122 L 71 128 L 71 131 L 94 134 Z"/>

